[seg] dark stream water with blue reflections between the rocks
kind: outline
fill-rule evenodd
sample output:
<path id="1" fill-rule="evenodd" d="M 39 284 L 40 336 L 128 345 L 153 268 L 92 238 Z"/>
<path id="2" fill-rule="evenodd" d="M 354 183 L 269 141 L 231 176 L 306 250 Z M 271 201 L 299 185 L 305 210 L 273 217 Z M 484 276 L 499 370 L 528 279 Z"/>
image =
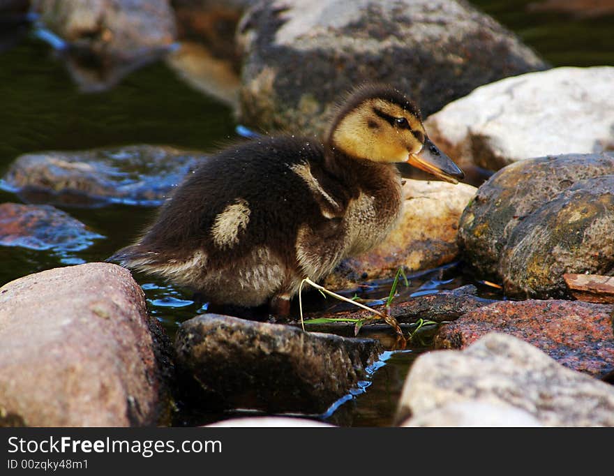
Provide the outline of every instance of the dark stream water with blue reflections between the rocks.
<path id="1" fill-rule="evenodd" d="M 613 16 L 578 20 L 561 13 L 527 13 L 527 1 L 474 3 L 516 31 L 554 66 L 614 64 Z M 190 89 L 161 63 L 137 70 L 108 92 L 82 94 L 48 45 L 28 36 L 27 27 L 9 31 L 0 23 L 0 175 L 20 154 L 40 150 L 148 143 L 207 151 L 234 137 L 235 126 L 227 107 Z M 0 192 L 0 202 L 19 201 Z M 132 241 L 155 214 L 153 208 L 123 205 L 64 210 L 104 238 L 83 251 L 0 247 L 0 285 L 43 269 L 104 260 Z M 171 336 L 182 321 L 205 311 L 181 290 L 147 276 L 135 278 L 144 288 L 151 313 Z M 403 295 L 473 282 L 454 266 L 411 281 L 410 288 L 400 288 Z M 384 281 L 367 290 L 366 296 L 384 297 L 389 285 Z M 309 306 L 337 305 L 312 293 Z M 426 329 L 405 350 L 383 355 L 368 380 L 331 410 L 329 421 L 351 426 L 391 424 L 405 375 L 415 357 L 429 349 L 432 331 Z M 373 336 L 393 348 L 390 334 Z M 197 423 L 228 416 L 202 416 Z"/>

